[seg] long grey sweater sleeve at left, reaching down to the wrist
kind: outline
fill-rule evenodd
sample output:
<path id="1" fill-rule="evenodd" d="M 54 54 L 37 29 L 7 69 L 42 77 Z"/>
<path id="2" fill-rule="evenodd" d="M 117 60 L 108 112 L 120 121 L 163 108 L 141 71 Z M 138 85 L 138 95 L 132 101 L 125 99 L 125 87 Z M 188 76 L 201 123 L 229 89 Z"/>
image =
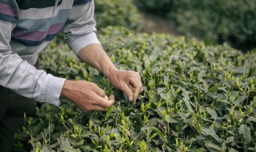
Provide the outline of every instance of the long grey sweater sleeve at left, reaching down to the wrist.
<path id="1" fill-rule="evenodd" d="M 11 32 L 18 22 L 18 15 L 15 0 L 0 0 L 0 85 L 26 98 L 58 106 L 65 79 L 37 70 L 12 52 Z"/>

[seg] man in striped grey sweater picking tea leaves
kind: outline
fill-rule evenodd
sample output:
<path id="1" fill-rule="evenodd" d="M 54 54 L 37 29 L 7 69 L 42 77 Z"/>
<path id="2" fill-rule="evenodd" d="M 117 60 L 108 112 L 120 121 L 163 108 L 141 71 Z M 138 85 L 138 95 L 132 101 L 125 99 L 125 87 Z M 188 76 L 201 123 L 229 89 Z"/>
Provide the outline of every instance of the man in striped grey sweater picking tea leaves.
<path id="1" fill-rule="evenodd" d="M 106 75 L 131 102 L 142 91 L 139 74 L 118 70 L 95 34 L 93 0 L 0 0 L 0 151 L 11 151 L 23 113 L 34 114 L 35 102 L 58 106 L 69 98 L 82 110 L 105 111 L 114 96 L 92 82 L 71 81 L 37 70 L 38 53 L 60 30 L 70 48 Z M 33 101 L 32 101 L 33 100 Z"/>

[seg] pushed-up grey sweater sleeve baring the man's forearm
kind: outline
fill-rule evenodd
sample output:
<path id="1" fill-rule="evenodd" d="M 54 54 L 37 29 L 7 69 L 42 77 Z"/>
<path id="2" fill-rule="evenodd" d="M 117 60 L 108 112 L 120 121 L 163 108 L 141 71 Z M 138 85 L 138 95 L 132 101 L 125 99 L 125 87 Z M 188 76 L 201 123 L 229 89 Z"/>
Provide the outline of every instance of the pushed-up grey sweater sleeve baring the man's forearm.
<path id="1" fill-rule="evenodd" d="M 64 27 L 65 39 L 74 54 L 85 46 L 100 44 L 96 36 L 93 0 L 74 0 L 74 6 Z"/>

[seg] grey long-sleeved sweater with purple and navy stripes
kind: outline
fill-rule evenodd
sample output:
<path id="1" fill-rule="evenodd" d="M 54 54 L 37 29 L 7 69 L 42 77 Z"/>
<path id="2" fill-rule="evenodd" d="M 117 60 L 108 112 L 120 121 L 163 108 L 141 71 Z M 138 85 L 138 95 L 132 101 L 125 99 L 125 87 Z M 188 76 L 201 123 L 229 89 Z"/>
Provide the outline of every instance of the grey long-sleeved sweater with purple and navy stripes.
<path id="1" fill-rule="evenodd" d="M 38 102 L 60 104 L 65 82 L 34 68 L 60 30 L 74 54 L 98 43 L 92 0 L 0 0 L 0 85 Z"/>

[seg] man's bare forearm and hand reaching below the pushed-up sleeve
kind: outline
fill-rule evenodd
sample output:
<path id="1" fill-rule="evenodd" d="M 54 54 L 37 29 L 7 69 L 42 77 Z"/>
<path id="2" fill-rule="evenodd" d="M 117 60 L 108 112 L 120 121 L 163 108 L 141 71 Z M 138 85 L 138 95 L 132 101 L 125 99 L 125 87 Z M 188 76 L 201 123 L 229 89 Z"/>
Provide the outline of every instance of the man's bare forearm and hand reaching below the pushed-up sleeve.
<path id="1" fill-rule="evenodd" d="M 142 92 L 141 77 L 137 72 L 130 70 L 118 70 L 102 46 L 91 44 L 78 52 L 78 57 L 93 66 L 110 79 L 110 82 L 119 90 L 122 90 L 130 102 L 135 102 L 138 94 Z"/>

